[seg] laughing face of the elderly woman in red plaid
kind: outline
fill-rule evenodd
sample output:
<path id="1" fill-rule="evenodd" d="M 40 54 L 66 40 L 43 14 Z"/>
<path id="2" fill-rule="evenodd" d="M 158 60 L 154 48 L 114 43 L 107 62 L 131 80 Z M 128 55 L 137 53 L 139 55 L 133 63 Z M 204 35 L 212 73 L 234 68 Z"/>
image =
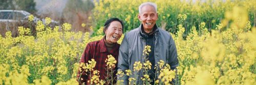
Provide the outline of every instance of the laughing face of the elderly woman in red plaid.
<path id="1" fill-rule="evenodd" d="M 123 34 L 122 24 L 119 21 L 112 21 L 108 29 L 105 30 L 106 42 L 116 43 Z"/>

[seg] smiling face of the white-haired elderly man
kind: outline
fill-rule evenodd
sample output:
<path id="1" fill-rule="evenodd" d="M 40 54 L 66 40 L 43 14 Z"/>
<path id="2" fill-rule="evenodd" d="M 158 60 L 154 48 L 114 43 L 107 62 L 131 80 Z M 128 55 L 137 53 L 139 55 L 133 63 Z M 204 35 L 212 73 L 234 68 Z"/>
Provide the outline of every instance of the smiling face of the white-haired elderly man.
<path id="1" fill-rule="evenodd" d="M 138 18 L 143 24 L 144 31 L 147 33 L 147 31 L 153 30 L 156 20 L 158 19 L 158 14 L 153 6 L 146 5 L 142 7 Z"/>

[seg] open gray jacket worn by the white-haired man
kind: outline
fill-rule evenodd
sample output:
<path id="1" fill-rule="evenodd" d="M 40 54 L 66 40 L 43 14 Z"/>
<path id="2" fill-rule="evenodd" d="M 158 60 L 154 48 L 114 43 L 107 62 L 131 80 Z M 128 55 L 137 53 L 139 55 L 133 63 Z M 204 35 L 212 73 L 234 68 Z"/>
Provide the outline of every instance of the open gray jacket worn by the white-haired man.
<path id="1" fill-rule="evenodd" d="M 133 72 L 134 63 L 138 61 L 143 62 L 144 59 L 142 51 L 146 45 L 146 42 L 145 39 L 140 35 L 141 26 L 142 25 L 125 34 L 119 48 L 117 65 L 118 71 L 125 72 L 125 70 L 130 69 Z M 175 42 L 168 32 L 158 27 L 157 30 L 158 31 L 155 32 L 155 65 L 158 65 L 157 62 L 162 60 L 165 63 L 168 63 L 172 69 L 175 69 L 179 65 Z M 137 73 L 134 72 L 134 74 L 137 74 L 138 76 L 131 75 L 120 77 L 117 75 L 117 79 L 122 79 L 124 80 L 123 84 L 127 84 L 129 82 L 128 79 L 130 77 L 134 77 L 136 79 L 136 83 L 141 84 L 142 81 L 140 77 L 143 76 L 142 71 Z M 157 73 L 157 75 L 159 75 L 159 73 Z"/>

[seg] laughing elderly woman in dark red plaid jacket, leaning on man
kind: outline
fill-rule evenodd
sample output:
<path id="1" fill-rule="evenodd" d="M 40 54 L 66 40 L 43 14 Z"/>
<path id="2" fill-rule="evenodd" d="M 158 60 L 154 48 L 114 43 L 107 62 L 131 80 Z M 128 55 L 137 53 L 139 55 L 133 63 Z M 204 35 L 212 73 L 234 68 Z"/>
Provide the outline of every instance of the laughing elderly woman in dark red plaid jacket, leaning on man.
<path id="1" fill-rule="evenodd" d="M 99 79 L 106 80 L 107 67 L 105 60 L 108 59 L 108 55 L 110 54 L 113 55 L 116 60 L 118 60 L 118 50 L 120 44 L 118 44 L 117 41 L 123 34 L 123 23 L 118 18 L 110 18 L 106 20 L 103 31 L 105 36 L 101 40 L 90 42 L 87 44 L 86 49 L 84 49 L 84 52 L 82 53 L 80 63 L 88 63 L 88 61 L 94 59 L 97 62 L 94 69 L 100 71 Z M 114 77 L 116 77 L 116 67 L 114 69 L 115 71 L 113 75 Z M 81 72 L 78 71 L 77 75 L 79 84 L 82 84 L 83 82 L 84 84 L 89 84 L 89 75 Z"/>

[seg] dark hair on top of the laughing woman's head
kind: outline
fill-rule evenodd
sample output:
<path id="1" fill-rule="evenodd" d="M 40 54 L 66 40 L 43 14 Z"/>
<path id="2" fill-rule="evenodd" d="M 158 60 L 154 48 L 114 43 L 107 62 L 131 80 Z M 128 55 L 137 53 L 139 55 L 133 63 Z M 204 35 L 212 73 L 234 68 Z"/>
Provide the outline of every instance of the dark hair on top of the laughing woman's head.
<path id="1" fill-rule="evenodd" d="M 108 20 L 106 20 L 105 24 L 104 24 L 104 29 L 103 29 L 103 33 L 105 34 L 105 31 L 108 29 L 108 27 L 110 26 L 110 23 L 113 21 L 119 21 L 122 24 L 122 31 L 123 31 L 123 22 L 118 19 L 118 18 L 110 18 Z"/>

